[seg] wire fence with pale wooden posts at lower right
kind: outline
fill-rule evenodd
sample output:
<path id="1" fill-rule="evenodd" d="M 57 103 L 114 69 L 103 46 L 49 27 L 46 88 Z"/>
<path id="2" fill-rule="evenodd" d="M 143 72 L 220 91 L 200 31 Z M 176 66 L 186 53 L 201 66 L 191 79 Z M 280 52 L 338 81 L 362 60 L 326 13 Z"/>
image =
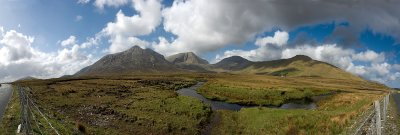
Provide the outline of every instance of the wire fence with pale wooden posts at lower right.
<path id="1" fill-rule="evenodd" d="M 369 109 L 363 122 L 358 126 L 353 135 L 383 135 L 385 134 L 384 125 L 387 122 L 387 109 L 389 106 L 389 95 L 382 100 L 377 100 Z"/>

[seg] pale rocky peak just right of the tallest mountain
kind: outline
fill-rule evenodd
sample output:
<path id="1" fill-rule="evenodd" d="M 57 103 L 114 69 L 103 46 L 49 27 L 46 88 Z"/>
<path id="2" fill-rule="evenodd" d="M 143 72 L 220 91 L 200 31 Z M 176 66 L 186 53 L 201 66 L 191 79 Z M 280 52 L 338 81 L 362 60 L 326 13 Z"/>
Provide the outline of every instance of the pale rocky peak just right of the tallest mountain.
<path id="1" fill-rule="evenodd" d="M 178 53 L 166 58 L 171 63 L 208 64 L 208 61 L 198 57 L 193 52 Z"/>

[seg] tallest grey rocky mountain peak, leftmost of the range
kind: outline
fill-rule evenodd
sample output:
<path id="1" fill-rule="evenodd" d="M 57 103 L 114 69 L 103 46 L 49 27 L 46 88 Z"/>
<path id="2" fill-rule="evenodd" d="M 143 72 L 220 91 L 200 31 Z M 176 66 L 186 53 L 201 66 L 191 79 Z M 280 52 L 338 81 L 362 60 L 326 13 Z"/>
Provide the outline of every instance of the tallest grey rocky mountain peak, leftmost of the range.
<path id="1" fill-rule="evenodd" d="M 175 66 L 165 60 L 163 55 L 151 49 L 133 46 L 126 51 L 106 55 L 76 74 L 118 74 L 176 70 Z"/>

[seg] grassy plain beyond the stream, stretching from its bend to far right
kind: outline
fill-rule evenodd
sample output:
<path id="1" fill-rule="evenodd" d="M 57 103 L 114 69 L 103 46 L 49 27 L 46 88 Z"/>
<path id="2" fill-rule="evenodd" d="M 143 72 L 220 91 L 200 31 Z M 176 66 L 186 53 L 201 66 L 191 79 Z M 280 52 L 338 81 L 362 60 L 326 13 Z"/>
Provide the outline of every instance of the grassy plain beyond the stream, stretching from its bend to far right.
<path id="1" fill-rule="evenodd" d="M 359 80 L 227 74 L 209 79 L 198 92 L 209 99 L 231 103 L 279 106 L 290 100 L 332 92 L 382 94 L 386 89 L 382 85 Z"/>

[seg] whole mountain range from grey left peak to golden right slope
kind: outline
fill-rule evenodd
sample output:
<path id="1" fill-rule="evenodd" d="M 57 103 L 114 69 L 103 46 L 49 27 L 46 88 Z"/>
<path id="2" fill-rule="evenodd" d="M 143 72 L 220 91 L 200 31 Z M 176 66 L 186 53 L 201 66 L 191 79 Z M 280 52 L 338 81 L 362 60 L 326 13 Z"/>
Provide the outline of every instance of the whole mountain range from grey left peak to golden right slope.
<path id="1" fill-rule="evenodd" d="M 289 59 L 253 62 L 240 56 L 231 56 L 215 64 L 198 57 L 193 52 L 179 53 L 164 58 L 151 50 L 134 46 L 126 51 L 109 54 L 83 68 L 75 75 L 103 75 L 151 72 L 229 72 L 272 76 L 319 76 L 327 78 L 356 79 L 360 77 L 329 63 L 313 60 L 305 55 Z"/>

